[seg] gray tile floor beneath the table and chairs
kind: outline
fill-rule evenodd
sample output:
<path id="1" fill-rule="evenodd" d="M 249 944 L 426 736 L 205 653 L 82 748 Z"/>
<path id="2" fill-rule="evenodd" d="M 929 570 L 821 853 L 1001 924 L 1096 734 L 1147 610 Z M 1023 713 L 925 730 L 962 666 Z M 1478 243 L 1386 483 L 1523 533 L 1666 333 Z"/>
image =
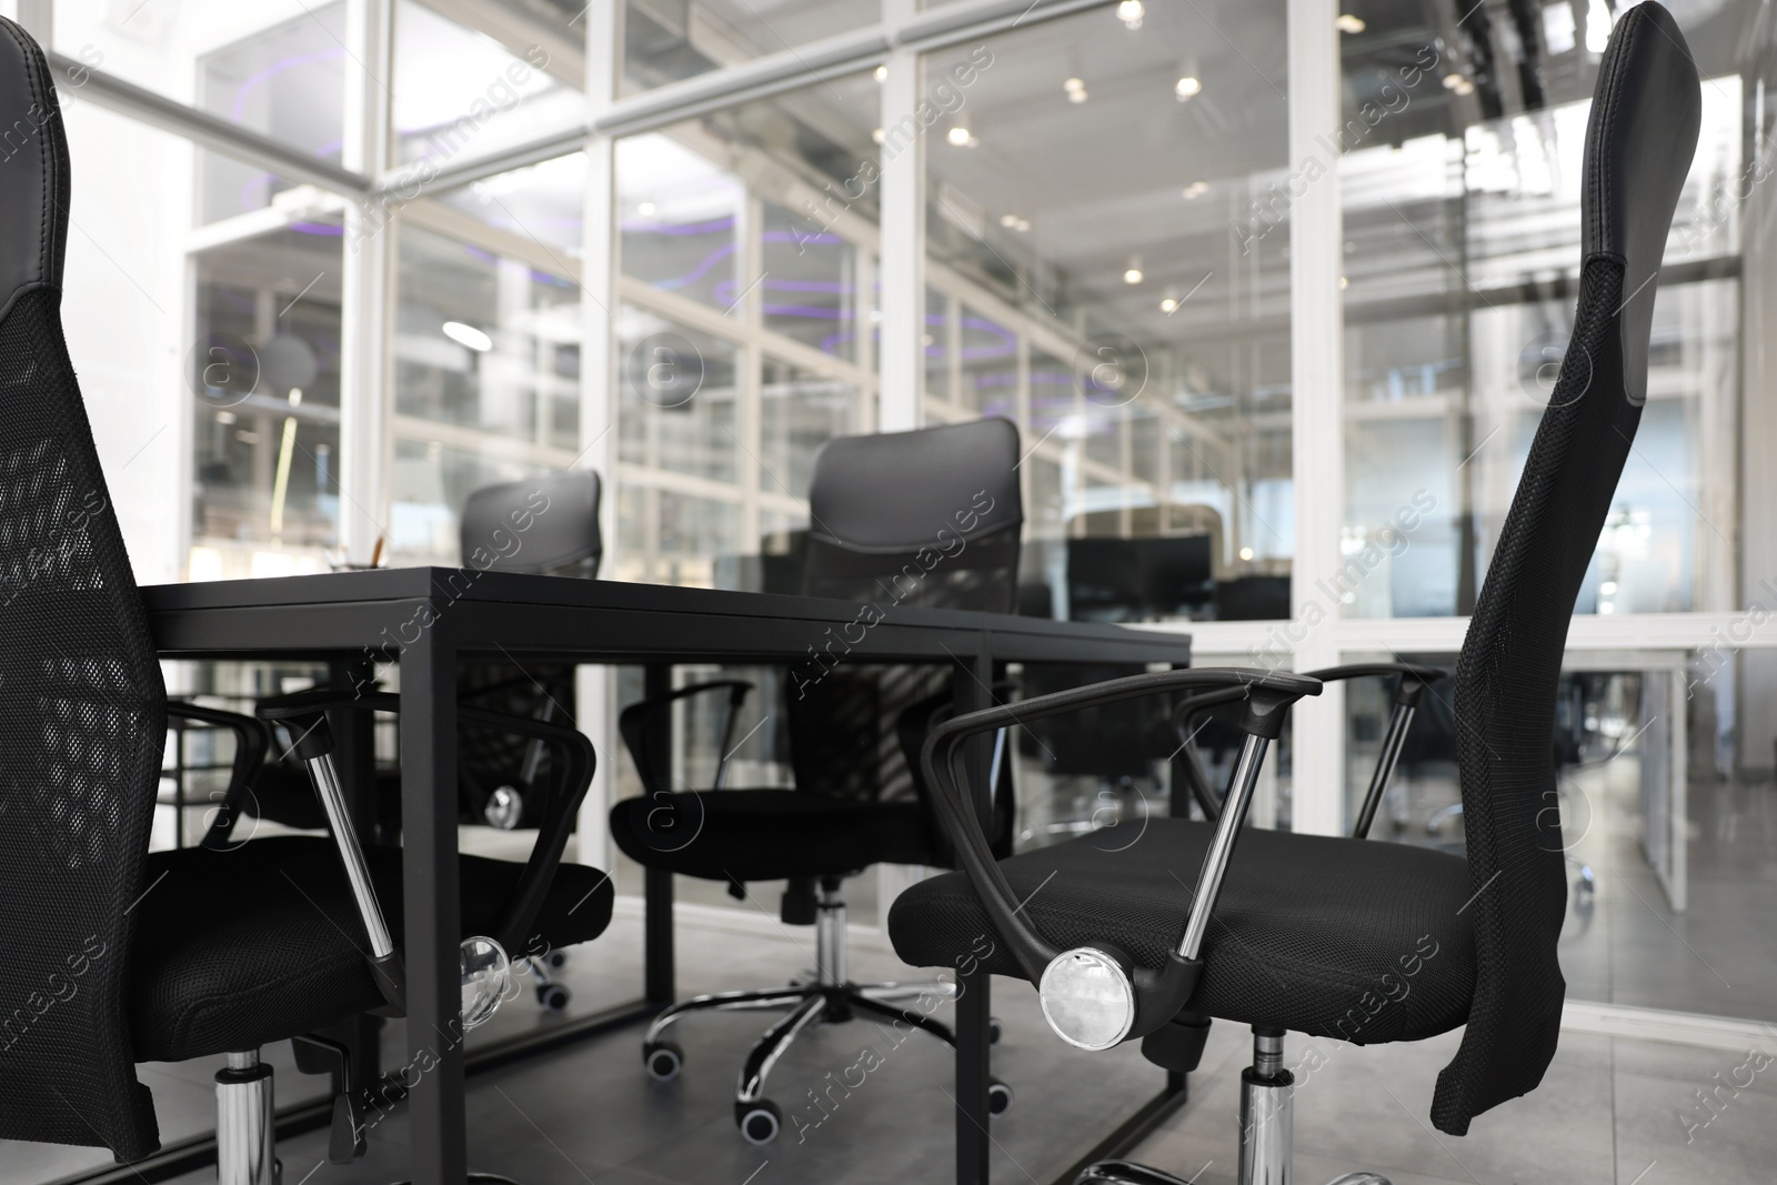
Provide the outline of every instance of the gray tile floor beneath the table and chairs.
<path id="1" fill-rule="evenodd" d="M 576 1007 L 597 1007 L 640 979 L 638 926 L 620 919 L 595 947 L 574 952 L 567 975 Z M 736 934 L 684 924 L 679 934 L 686 991 L 778 982 L 807 961 L 807 931 Z M 904 968 L 874 943 L 853 949 L 855 975 L 894 977 Z M 995 982 L 993 1011 L 1006 1020 L 995 1073 L 1018 1091 L 993 1125 L 993 1180 L 1047 1185 L 1121 1114 L 1159 1087 L 1159 1071 L 1132 1048 L 1079 1054 L 1048 1036 L 1032 991 Z M 514 1000 L 487 1030 L 551 1023 L 530 1000 Z M 745 1144 L 729 1091 L 761 1018 L 698 1016 L 679 1036 L 688 1066 L 675 1084 L 649 1082 L 638 1032 L 599 1038 L 562 1054 L 478 1075 L 469 1082 L 469 1148 L 474 1167 L 526 1185 L 793 1185 L 801 1181 L 944 1181 L 952 1173 L 951 1061 L 935 1045 L 894 1045 L 881 1029 L 853 1023 L 816 1030 L 777 1066 L 769 1094 L 791 1130 L 766 1149 Z M 1743 1054 L 1569 1034 L 1539 1091 L 1482 1116 L 1468 1137 L 1427 1125 L 1432 1084 L 1459 1034 L 1377 1048 L 1313 1043 L 1324 1062 L 1295 1100 L 1297 1180 L 1324 1181 L 1354 1167 L 1390 1173 L 1397 1185 L 1562 1181 L 1574 1185 L 1765 1185 L 1777 1180 L 1777 1062 L 1715 1110 L 1697 1091 L 1747 1080 Z M 394 1045 L 396 1034 L 389 1034 Z M 865 1082 L 837 1091 L 826 1109 L 810 1091 L 830 1084 L 871 1045 L 883 1064 Z M 1299 1062 L 1310 1039 L 1290 1038 Z M 1777 1054 L 1777 1041 L 1772 1041 Z M 1247 1039 L 1215 1025 L 1192 1101 L 1137 1153 L 1201 1185 L 1233 1180 L 1239 1071 Z M 1754 1062 L 1756 1064 L 1756 1062 Z M 165 1133 L 210 1123 L 208 1066 L 151 1066 Z M 1715 1075 L 1720 1075 L 1717 1078 Z M 295 1075 L 279 1057 L 279 1098 L 320 1078 Z M 1692 1126 L 1681 1121 L 1692 1116 Z M 1711 1117 L 1713 1114 L 1713 1117 Z M 1708 1125 L 1702 1126 L 1702 1121 Z M 1686 1141 L 1686 1135 L 1690 1137 Z M 325 1133 L 281 1148 L 286 1185 L 386 1183 L 405 1176 L 402 1109 L 371 1132 L 364 1160 L 325 1164 Z M 0 1185 L 37 1185 L 82 1164 L 108 1160 L 78 1149 L 0 1144 Z M 213 1181 L 194 1173 L 183 1185 Z"/>

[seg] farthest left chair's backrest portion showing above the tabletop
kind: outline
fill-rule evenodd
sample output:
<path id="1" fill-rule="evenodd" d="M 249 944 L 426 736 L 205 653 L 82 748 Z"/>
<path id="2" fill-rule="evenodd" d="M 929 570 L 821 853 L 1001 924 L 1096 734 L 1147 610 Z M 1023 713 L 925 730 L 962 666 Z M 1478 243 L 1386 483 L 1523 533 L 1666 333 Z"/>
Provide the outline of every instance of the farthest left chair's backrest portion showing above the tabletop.
<path id="1" fill-rule="evenodd" d="M 462 506 L 462 563 L 478 570 L 599 574 L 599 474 L 546 473 L 478 487 Z"/>

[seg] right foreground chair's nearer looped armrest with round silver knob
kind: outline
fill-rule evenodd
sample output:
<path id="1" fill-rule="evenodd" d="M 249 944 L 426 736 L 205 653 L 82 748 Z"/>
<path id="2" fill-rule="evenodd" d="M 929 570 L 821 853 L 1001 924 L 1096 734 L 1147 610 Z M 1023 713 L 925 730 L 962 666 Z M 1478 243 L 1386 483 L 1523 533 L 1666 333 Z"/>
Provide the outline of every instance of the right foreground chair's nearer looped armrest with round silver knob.
<path id="1" fill-rule="evenodd" d="M 1059 716 L 1063 712 L 1098 704 L 1114 704 L 1120 700 L 1192 688 L 1239 689 L 1246 700 L 1240 730 L 1247 734 L 1247 743 L 1240 753 L 1240 760 L 1235 764 L 1235 783 L 1230 787 L 1228 796 L 1230 810 L 1224 810 L 1221 821 L 1217 823 L 1210 851 L 1205 856 L 1201 872 L 1198 874 L 1198 885 L 1191 901 L 1191 913 L 1182 920 L 1176 947 L 1167 959 L 1167 966 L 1159 972 L 1132 966 L 1128 956 L 1118 952 L 1111 943 L 1096 943 L 1091 950 L 1057 950 L 1036 931 L 1031 920 L 1020 913 L 1024 910 L 1024 903 L 1020 903 L 1013 894 L 1011 883 L 1006 879 L 1006 874 L 1000 871 L 999 863 L 995 863 L 988 849 L 988 842 L 981 833 L 981 821 L 976 817 L 976 812 L 970 807 L 972 799 L 963 785 L 963 744 L 970 737 L 984 732 L 1006 728 L 1009 725 L 1025 725 L 1031 720 Z M 1084 1048 L 1107 1048 L 1107 1045 L 1086 1045 L 1063 1032 L 1056 1016 L 1050 1014 L 1047 1007 L 1050 972 L 1057 965 L 1063 965 L 1066 956 L 1073 956 L 1077 952 L 1091 956 L 1100 965 L 1116 965 L 1128 988 L 1128 1023 L 1121 1025 L 1111 1045 L 1153 1032 L 1176 1016 L 1183 1004 L 1191 998 L 1203 970 L 1198 958 L 1203 931 L 1208 926 L 1210 910 L 1215 906 L 1228 856 L 1233 851 L 1233 840 L 1239 837 L 1240 824 L 1246 821 L 1246 808 L 1251 801 L 1253 785 L 1258 780 L 1258 769 L 1263 762 L 1265 746 L 1281 734 L 1283 716 L 1290 704 L 1304 695 L 1320 695 L 1320 682 L 1303 675 L 1283 675 L 1242 668 L 1176 670 L 1151 675 L 1128 675 L 1125 679 L 1111 679 L 1088 688 L 1043 695 L 1015 705 L 988 707 L 947 720 L 931 730 L 924 753 L 920 755 L 920 766 L 926 771 L 928 785 L 933 787 L 933 803 L 936 805 L 940 821 L 951 837 L 956 860 L 968 876 L 970 885 L 974 885 L 976 895 L 981 899 L 988 919 L 993 922 L 993 929 L 1006 942 L 1025 977 L 1040 986 L 1040 991 L 1045 995 L 1045 1014 L 1050 1016 L 1050 1025 L 1054 1025 L 1064 1039 L 1082 1045 Z"/>

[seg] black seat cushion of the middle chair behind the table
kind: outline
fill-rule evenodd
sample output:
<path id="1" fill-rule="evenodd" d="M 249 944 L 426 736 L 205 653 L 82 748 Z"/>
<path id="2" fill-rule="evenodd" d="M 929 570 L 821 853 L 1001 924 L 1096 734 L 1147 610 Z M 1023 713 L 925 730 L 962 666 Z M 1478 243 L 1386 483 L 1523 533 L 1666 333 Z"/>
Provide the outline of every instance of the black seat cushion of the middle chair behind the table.
<path id="1" fill-rule="evenodd" d="M 869 803 L 800 791 L 709 791 L 627 798 L 611 835 L 636 863 L 711 881 L 844 876 L 873 863 L 931 863 L 919 803 Z"/>

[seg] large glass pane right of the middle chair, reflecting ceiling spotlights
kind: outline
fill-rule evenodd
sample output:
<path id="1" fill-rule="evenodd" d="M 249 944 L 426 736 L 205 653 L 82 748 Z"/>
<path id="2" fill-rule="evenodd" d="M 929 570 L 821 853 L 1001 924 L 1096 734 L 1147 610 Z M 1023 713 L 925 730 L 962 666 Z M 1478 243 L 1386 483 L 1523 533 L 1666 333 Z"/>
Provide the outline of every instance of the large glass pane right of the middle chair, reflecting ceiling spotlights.
<path id="1" fill-rule="evenodd" d="M 1287 211 L 1239 233 L 1290 165 L 1285 32 L 1283 0 L 1104 5 L 924 59 L 940 115 L 912 135 L 928 281 L 960 302 L 954 402 L 1018 418 L 1047 465 L 1031 497 L 1063 515 L 1031 604 L 1086 611 L 1072 554 L 1095 616 L 1288 611 Z M 1109 565 L 1166 576 L 1112 588 Z"/>

